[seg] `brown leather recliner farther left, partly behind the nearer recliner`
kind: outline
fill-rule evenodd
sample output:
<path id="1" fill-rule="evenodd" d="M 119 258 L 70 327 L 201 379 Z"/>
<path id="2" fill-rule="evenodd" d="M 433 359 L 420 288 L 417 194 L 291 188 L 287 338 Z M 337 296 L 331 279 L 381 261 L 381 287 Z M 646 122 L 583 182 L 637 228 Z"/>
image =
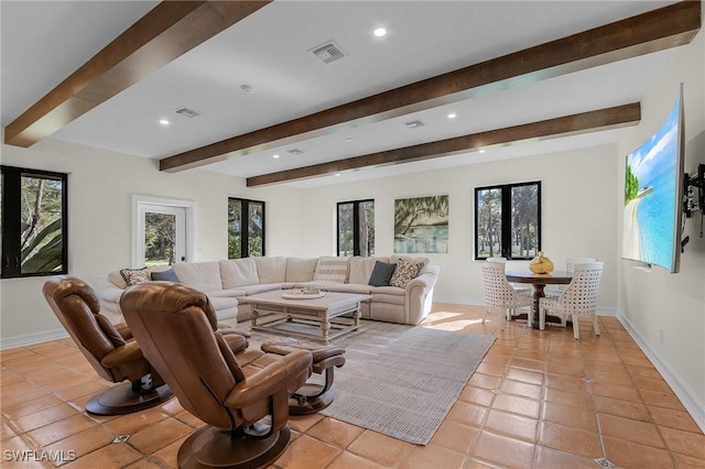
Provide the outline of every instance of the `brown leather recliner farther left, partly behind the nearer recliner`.
<path id="1" fill-rule="evenodd" d="M 96 372 L 112 383 L 130 381 L 91 397 L 86 403 L 88 413 L 129 414 L 173 397 L 142 356 L 127 325 L 113 325 L 100 314 L 100 302 L 90 285 L 72 275 L 59 275 L 47 280 L 42 291 Z"/>

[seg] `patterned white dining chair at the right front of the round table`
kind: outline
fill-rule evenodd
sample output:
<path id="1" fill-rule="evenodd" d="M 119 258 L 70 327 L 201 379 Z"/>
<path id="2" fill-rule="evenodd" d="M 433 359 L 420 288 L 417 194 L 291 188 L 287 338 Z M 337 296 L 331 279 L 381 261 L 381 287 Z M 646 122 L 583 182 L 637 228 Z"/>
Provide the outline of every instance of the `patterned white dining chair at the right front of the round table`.
<path id="1" fill-rule="evenodd" d="M 597 324 L 597 293 L 603 276 L 603 262 L 587 262 L 573 264 L 573 280 L 567 288 L 557 297 L 539 299 L 539 328 L 545 326 L 546 313 L 551 312 L 561 317 L 565 326 L 568 317 L 573 320 L 573 336 L 579 339 L 578 315 L 592 315 L 595 335 L 599 336 Z"/>

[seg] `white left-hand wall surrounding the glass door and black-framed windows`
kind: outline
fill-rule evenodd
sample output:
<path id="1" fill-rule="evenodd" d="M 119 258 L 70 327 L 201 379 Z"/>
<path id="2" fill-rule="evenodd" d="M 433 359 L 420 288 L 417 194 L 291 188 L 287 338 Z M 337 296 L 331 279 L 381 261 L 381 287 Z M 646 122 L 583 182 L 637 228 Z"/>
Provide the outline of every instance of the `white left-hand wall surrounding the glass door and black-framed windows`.
<path id="1" fill-rule="evenodd" d="M 268 219 L 295 230 L 289 236 L 290 228 L 268 229 L 268 244 L 276 246 L 280 253 L 299 249 L 300 204 L 295 190 L 275 188 L 262 194 L 248 189 L 241 178 L 206 171 L 161 173 L 155 161 L 51 139 L 29 150 L 2 145 L 2 164 L 69 174 L 68 269 L 85 280 L 130 266 L 134 194 L 196 203 L 196 260 L 227 257 L 228 197 L 267 201 Z M 0 281 L 3 342 L 28 336 L 52 337 L 61 330 L 41 293 L 44 280 Z"/>

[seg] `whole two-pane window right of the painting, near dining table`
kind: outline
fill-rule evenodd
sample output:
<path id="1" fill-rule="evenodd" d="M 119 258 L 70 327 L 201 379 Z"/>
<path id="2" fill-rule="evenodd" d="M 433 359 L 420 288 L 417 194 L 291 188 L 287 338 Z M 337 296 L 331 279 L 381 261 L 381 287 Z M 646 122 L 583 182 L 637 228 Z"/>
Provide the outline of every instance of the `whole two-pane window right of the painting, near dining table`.
<path id="1" fill-rule="evenodd" d="M 541 182 L 475 189 L 475 259 L 533 259 L 541 250 Z"/>

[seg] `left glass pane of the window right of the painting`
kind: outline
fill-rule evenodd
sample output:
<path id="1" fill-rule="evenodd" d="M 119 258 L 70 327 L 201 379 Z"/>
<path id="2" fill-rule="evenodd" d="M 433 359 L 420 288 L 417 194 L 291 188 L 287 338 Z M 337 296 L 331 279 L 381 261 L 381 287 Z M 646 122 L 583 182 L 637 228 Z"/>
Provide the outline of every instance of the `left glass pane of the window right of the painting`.
<path id="1" fill-rule="evenodd" d="M 502 190 L 477 192 L 477 257 L 499 257 L 502 252 Z"/>

